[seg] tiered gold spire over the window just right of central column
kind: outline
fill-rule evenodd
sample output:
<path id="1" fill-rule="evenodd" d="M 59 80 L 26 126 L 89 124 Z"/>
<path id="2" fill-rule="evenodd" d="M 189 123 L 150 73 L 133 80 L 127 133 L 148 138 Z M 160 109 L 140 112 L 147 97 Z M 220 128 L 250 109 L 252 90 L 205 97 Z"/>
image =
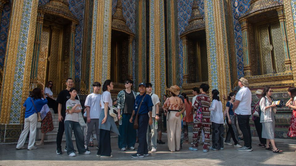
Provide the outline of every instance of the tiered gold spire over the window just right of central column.
<path id="1" fill-rule="evenodd" d="M 181 34 L 181 37 L 194 31 L 203 30 L 205 28 L 206 26 L 203 20 L 203 16 L 200 15 L 200 12 L 198 10 L 198 3 L 196 0 L 194 0 L 189 24 L 186 26 L 184 32 Z"/>

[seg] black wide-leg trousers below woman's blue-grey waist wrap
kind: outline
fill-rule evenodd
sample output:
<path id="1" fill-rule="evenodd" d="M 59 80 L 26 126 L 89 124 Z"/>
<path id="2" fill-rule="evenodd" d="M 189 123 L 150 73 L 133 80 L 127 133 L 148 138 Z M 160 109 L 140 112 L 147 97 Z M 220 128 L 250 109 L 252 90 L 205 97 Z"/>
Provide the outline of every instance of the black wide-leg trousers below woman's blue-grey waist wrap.
<path id="1" fill-rule="evenodd" d="M 111 156 L 110 130 L 100 129 L 99 150 L 97 155 Z"/>

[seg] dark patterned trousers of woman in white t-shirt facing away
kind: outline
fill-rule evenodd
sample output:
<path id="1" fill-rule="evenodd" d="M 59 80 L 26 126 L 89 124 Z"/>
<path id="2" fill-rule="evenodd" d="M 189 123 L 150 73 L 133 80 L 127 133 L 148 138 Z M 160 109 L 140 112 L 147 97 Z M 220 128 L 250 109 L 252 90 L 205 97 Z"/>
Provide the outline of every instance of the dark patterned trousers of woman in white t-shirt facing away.
<path id="1" fill-rule="evenodd" d="M 223 148 L 224 127 L 223 124 L 212 122 L 212 148 Z"/>

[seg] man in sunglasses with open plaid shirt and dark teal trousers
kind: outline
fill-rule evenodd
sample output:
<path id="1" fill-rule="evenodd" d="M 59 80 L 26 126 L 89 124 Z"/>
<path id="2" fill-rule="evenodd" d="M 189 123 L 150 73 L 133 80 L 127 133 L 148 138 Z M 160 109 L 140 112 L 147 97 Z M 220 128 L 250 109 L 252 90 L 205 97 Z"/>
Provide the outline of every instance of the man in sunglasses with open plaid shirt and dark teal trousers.
<path id="1" fill-rule="evenodd" d="M 118 109 L 118 120 L 122 121 L 119 125 L 118 136 L 118 148 L 121 151 L 125 151 L 125 148 L 134 150 L 136 143 L 136 130 L 134 129 L 133 123 L 130 123 L 130 117 L 133 113 L 134 101 L 137 97 L 137 93 L 132 90 L 134 81 L 126 80 L 124 85 L 125 89 L 120 91 L 117 96 L 117 109 Z"/>

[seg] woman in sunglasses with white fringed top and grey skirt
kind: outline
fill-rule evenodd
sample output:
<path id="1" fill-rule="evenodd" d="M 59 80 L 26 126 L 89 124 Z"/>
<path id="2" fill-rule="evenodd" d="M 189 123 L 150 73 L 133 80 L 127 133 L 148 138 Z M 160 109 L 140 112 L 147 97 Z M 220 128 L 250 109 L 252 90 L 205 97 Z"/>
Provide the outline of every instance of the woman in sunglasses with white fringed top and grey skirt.
<path id="1" fill-rule="evenodd" d="M 262 138 L 266 138 L 266 150 L 272 150 L 274 153 L 282 153 L 282 150 L 279 150 L 275 147 L 274 143 L 274 128 L 275 128 L 275 117 L 276 113 L 275 104 L 272 104 L 273 98 L 271 97 L 273 90 L 270 86 L 266 86 L 262 93 L 262 98 L 260 100 L 260 123 L 262 123 Z M 272 148 L 269 147 L 269 142 L 271 143 Z"/>

